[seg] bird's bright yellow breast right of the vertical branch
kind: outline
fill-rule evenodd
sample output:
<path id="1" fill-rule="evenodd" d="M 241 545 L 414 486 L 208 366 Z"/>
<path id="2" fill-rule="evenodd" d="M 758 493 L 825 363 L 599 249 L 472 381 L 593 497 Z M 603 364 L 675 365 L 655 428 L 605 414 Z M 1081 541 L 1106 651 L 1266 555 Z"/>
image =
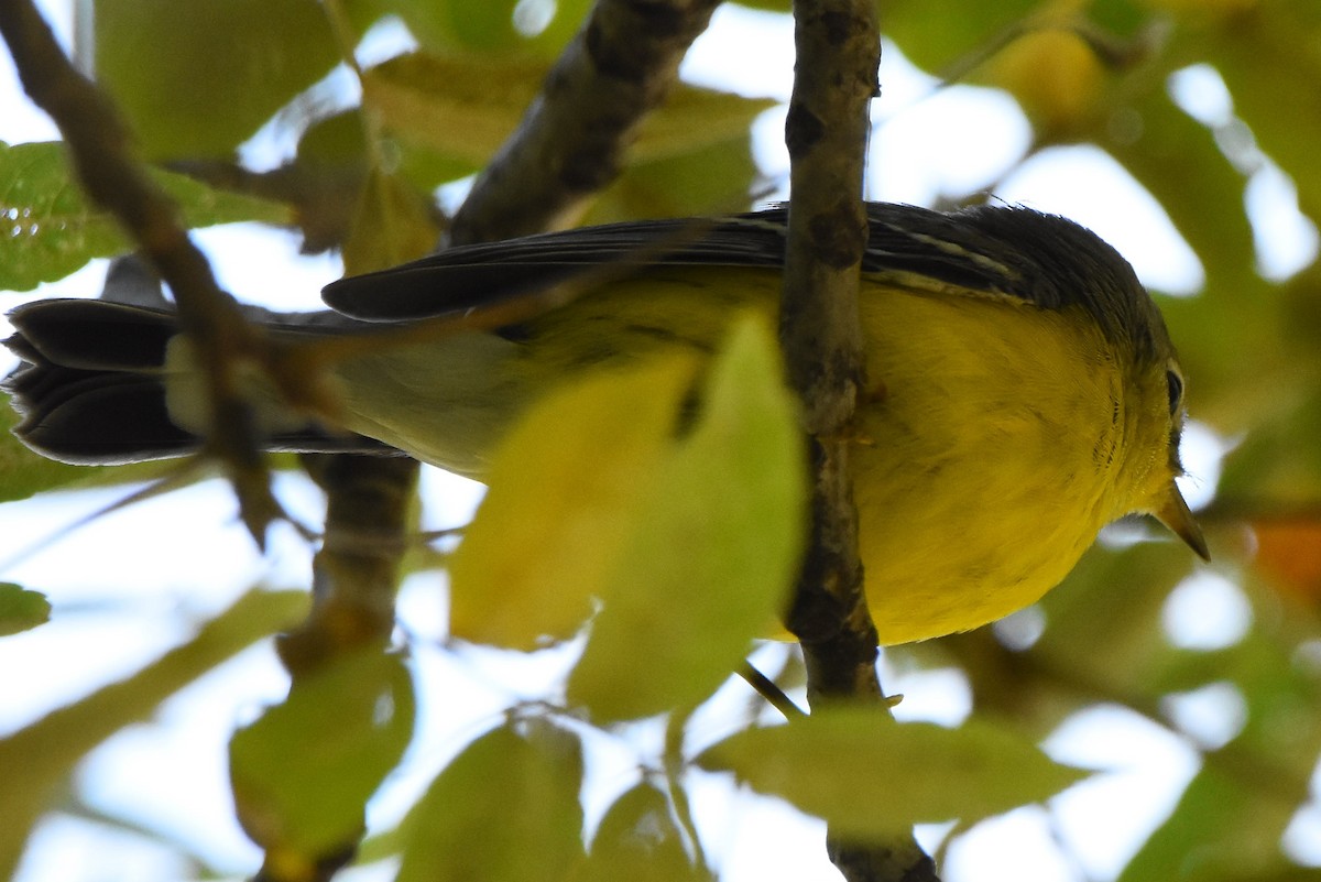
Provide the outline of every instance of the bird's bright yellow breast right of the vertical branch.
<path id="1" fill-rule="evenodd" d="M 876 400 L 852 450 L 867 593 L 884 643 L 1037 601 L 1107 522 L 1125 436 L 1102 334 L 1008 300 L 863 301 Z"/>

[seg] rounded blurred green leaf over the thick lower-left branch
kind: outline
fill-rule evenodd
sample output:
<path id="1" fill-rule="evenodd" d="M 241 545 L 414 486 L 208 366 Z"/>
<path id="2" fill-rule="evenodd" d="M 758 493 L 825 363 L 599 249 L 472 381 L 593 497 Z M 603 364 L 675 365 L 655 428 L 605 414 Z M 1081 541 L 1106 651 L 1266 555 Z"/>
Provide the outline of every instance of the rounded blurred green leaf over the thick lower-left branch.
<path id="1" fill-rule="evenodd" d="M 345 848 L 412 728 L 412 679 L 398 655 L 373 647 L 297 681 L 284 704 L 230 742 L 243 829 L 267 850 L 305 861 Z"/>

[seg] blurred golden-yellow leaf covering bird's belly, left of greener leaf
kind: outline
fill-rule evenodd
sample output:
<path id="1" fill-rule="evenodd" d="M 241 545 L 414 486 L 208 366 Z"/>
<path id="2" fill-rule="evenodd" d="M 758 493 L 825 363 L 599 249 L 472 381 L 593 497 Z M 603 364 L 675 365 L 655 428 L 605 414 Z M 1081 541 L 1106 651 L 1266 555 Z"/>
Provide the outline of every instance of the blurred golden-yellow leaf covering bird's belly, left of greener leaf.
<path id="1" fill-rule="evenodd" d="M 532 405 L 450 562 L 456 636 L 531 650 L 581 627 L 638 528 L 695 371 L 687 354 L 658 358 Z"/>

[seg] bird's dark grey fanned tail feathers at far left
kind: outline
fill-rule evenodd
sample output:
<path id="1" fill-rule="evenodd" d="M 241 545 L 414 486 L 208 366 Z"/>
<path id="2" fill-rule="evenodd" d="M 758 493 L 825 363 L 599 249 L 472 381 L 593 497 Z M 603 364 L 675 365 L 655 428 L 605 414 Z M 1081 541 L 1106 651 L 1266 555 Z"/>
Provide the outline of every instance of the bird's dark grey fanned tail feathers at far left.
<path id="1" fill-rule="evenodd" d="M 178 426 L 165 400 L 165 353 L 178 333 L 169 309 L 106 300 L 44 300 L 9 313 L 4 345 L 22 363 L 5 378 L 21 420 L 15 434 L 45 457 L 78 465 L 164 459 L 202 438 Z M 303 330 L 303 329 L 300 329 Z M 361 436 L 308 425 L 271 450 L 383 453 Z"/>

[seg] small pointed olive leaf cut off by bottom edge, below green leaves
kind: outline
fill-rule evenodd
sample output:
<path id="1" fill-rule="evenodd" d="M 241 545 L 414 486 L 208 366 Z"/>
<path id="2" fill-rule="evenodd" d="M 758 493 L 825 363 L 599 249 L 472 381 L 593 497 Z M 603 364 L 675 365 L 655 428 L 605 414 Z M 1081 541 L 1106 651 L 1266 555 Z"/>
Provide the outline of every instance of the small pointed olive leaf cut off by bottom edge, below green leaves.
<path id="1" fill-rule="evenodd" d="M 712 879 L 694 866 L 670 812 L 670 800 L 655 786 L 625 791 L 605 812 L 592 838 L 583 882 L 697 882 Z"/>

